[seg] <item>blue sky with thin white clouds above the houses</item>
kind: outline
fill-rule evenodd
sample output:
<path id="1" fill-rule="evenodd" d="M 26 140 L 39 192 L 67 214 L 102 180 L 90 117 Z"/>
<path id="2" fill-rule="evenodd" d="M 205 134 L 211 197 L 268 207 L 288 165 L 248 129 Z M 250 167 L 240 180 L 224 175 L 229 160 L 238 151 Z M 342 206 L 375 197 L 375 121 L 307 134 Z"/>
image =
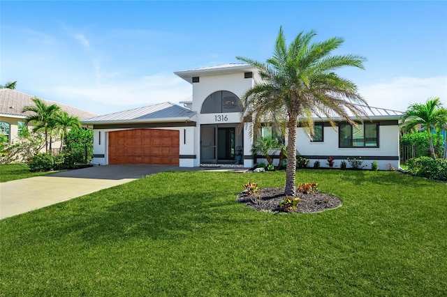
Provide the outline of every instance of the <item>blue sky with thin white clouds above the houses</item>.
<path id="1" fill-rule="evenodd" d="M 279 26 L 367 58 L 339 73 L 369 105 L 447 105 L 447 1 L 1 1 L 0 84 L 108 114 L 191 96 L 173 72 L 265 61 Z"/>

